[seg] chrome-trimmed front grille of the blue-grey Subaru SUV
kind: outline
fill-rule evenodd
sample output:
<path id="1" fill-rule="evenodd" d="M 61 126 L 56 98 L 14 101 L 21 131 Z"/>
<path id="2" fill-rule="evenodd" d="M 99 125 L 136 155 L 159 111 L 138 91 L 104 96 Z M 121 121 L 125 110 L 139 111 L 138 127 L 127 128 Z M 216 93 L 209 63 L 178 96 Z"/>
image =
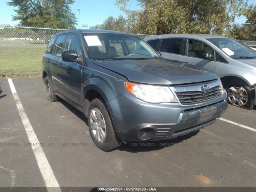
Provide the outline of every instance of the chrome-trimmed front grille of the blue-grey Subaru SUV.
<path id="1" fill-rule="evenodd" d="M 205 100 L 213 99 L 221 94 L 221 85 L 210 88 L 207 92 L 183 91 L 175 92 L 181 104 L 194 104 Z"/>

